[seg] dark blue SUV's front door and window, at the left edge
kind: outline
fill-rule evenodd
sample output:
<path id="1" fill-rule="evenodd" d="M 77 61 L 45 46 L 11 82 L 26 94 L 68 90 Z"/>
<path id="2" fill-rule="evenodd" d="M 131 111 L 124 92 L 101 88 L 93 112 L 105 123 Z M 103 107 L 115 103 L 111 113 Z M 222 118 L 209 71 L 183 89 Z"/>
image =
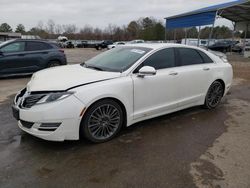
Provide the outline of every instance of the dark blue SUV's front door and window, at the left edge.
<path id="1" fill-rule="evenodd" d="M 0 55 L 0 74 L 25 73 L 25 42 L 16 41 L 3 46 Z"/>

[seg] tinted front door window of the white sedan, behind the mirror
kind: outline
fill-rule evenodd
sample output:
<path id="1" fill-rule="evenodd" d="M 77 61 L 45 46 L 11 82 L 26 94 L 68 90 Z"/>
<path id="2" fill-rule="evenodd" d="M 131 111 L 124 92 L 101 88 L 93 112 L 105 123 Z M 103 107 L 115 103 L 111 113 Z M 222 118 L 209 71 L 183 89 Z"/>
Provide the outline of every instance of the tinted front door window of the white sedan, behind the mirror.
<path id="1" fill-rule="evenodd" d="M 175 66 L 175 54 L 173 48 L 160 50 L 143 62 L 143 66 L 151 66 L 156 70 Z"/>

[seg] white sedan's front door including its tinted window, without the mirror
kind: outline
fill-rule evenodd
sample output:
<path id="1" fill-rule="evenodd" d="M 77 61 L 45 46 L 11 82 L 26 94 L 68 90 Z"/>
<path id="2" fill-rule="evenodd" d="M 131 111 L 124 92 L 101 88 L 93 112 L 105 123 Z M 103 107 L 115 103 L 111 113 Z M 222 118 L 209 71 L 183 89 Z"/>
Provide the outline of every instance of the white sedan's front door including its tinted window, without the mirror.
<path id="1" fill-rule="evenodd" d="M 143 66 L 157 70 L 156 75 L 138 77 Z M 174 49 L 166 48 L 147 58 L 132 75 L 134 84 L 134 119 L 153 117 L 177 107 Z"/>

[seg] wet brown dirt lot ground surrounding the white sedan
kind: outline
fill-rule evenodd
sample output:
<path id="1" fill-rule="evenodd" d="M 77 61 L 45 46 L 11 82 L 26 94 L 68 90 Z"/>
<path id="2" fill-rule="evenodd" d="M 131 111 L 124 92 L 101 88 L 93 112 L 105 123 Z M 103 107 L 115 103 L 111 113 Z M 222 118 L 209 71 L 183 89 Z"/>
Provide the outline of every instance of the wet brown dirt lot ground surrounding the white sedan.
<path id="1" fill-rule="evenodd" d="M 70 63 L 96 55 L 67 50 Z M 20 131 L 14 94 L 0 80 L 0 187 L 250 187 L 250 60 L 230 57 L 234 86 L 215 110 L 200 107 L 138 123 L 114 140 L 53 143 Z"/>

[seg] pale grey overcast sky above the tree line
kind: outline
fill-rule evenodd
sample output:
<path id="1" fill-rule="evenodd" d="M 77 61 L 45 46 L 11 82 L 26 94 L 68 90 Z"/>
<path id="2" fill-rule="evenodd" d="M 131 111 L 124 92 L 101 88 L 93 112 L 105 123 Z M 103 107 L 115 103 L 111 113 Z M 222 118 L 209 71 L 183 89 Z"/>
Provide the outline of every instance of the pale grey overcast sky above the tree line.
<path id="1" fill-rule="evenodd" d="M 230 0 L 0 0 L 0 23 L 13 28 L 22 23 L 26 29 L 48 19 L 57 24 L 92 25 L 104 28 L 109 23 L 127 25 L 131 20 L 165 17 Z M 231 0 L 232 1 L 232 0 Z M 217 25 L 225 24 L 219 20 Z"/>

